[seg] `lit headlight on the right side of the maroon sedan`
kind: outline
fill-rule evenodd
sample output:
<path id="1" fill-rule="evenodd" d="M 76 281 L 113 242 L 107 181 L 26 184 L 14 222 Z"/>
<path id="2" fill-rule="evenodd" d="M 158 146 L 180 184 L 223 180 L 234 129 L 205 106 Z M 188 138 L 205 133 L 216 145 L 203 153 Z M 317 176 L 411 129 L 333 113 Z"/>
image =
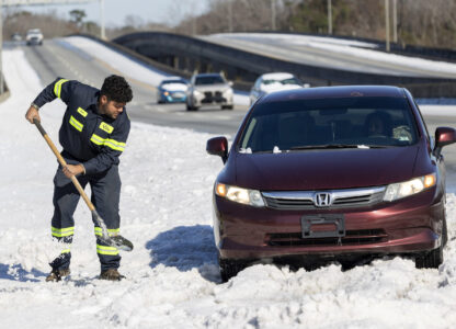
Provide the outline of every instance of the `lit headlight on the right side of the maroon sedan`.
<path id="1" fill-rule="evenodd" d="M 407 182 L 389 184 L 386 189 L 384 201 L 395 201 L 420 193 L 434 186 L 435 183 L 435 173 L 431 173 Z"/>

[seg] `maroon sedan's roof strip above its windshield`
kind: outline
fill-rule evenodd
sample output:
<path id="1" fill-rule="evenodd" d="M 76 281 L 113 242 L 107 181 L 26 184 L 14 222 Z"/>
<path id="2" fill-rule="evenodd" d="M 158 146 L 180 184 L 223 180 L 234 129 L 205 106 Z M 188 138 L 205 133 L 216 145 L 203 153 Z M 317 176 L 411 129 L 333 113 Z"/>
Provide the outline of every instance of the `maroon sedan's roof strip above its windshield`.
<path id="1" fill-rule="evenodd" d="M 343 86 L 343 87 L 300 88 L 300 89 L 272 92 L 263 97 L 260 100 L 260 103 L 286 101 L 286 100 L 352 98 L 352 97 L 404 98 L 406 93 L 402 88 L 392 87 L 392 86 Z"/>

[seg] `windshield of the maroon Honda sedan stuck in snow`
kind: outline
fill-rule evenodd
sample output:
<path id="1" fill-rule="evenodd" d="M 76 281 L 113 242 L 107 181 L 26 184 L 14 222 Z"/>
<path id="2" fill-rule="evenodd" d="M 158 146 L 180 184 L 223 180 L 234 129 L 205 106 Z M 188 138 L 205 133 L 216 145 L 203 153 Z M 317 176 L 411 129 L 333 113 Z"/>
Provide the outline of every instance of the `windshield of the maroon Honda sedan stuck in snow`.
<path id="1" fill-rule="evenodd" d="M 400 147 L 417 143 L 417 136 L 402 98 L 293 100 L 258 104 L 238 149 L 250 154 Z"/>

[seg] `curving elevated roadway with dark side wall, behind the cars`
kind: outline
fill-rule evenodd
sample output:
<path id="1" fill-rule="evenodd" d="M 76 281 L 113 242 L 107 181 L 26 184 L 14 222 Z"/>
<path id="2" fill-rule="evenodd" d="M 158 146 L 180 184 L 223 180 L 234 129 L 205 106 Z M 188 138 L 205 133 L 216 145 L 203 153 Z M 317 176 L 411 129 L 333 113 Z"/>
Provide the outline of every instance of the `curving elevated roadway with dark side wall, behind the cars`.
<path id="1" fill-rule="evenodd" d="M 455 98 L 456 80 L 449 73 L 432 73 L 423 69 L 378 66 L 375 60 L 343 58 L 321 52 L 315 58 L 299 60 L 306 53 L 277 47 L 259 47 L 239 41 L 190 37 L 163 32 L 127 34 L 113 41 L 155 63 L 164 65 L 174 73 L 189 77 L 193 71 L 224 71 L 241 89 L 248 89 L 259 75 L 271 71 L 294 72 L 311 86 L 394 84 L 408 88 L 419 98 Z M 293 55 L 293 56 L 292 56 Z M 144 58 L 142 57 L 142 58 Z M 326 59 L 326 63 L 324 63 Z M 339 67 L 330 65 L 339 60 Z"/>

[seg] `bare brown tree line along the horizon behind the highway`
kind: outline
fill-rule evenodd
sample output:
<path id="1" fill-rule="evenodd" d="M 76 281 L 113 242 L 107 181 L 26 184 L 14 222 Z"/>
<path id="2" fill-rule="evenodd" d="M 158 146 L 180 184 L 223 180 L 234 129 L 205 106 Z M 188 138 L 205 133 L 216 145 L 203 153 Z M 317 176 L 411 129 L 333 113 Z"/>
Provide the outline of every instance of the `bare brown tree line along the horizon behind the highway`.
<path id="1" fill-rule="evenodd" d="M 197 1 L 197 0 L 189 0 Z M 294 33 L 329 33 L 328 5 L 331 3 L 332 34 L 385 41 L 385 0 L 207 0 L 207 11 L 195 15 L 171 7 L 164 24 L 145 22 L 128 15 L 123 26 L 107 27 L 109 38 L 137 31 L 167 31 L 187 35 L 225 32 L 281 31 Z M 456 48 L 456 0 L 388 0 L 392 24 L 394 3 L 397 13 L 397 38 L 400 45 Z M 196 2 L 195 2 L 196 3 Z M 180 21 L 174 22 L 175 16 Z M 70 19 L 55 12 L 34 14 L 26 11 L 5 12 L 3 35 L 8 38 L 33 27 L 45 37 L 89 33 L 100 35 L 95 22 L 84 20 L 83 11 L 73 10 Z M 390 29 L 392 31 L 392 26 Z M 391 32 L 392 37 L 392 32 Z"/>

